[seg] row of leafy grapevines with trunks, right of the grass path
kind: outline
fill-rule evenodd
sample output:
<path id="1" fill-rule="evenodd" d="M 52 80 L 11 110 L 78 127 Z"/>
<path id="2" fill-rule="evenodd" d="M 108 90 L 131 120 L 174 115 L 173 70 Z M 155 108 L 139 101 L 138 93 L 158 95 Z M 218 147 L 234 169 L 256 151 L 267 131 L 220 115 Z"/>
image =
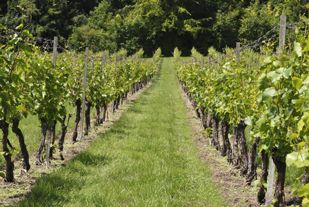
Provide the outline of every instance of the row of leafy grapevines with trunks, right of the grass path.
<path id="1" fill-rule="evenodd" d="M 299 168 L 297 179 L 302 185 L 296 184 L 295 191 L 303 197 L 303 206 L 309 204 L 309 21 L 306 17 L 301 20 L 306 22 L 299 25 L 303 32 L 296 30 L 293 47 L 280 56 L 270 53 L 272 48 L 265 47 L 261 48 L 261 53 L 243 50 L 241 57 L 226 48 L 220 57 L 212 48 L 209 57 L 215 62 L 203 64 L 203 56 L 193 49 L 193 61 L 181 63 L 180 52 L 175 49 L 179 80 L 197 115 L 201 116 L 206 132 L 211 135 L 210 143 L 240 169 L 248 184 L 257 175 L 259 149 L 262 160 L 260 203 L 265 201 L 269 157 L 275 163 L 278 174 L 274 206 L 286 206 L 287 165 Z M 218 139 L 219 122 L 222 142 Z M 251 146 L 246 143 L 246 126 L 251 127 Z M 229 132 L 232 132 L 232 143 Z"/>

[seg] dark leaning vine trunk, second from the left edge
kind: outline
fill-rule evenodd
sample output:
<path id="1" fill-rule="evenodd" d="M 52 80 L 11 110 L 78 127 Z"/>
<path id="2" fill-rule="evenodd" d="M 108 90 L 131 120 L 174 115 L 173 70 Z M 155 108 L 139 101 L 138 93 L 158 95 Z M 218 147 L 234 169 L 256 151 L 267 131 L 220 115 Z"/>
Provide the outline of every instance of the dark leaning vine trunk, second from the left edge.
<path id="1" fill-rule="evenodd" d="M 29 164 L 29 154 L 27 150 L 27 146 L 25 144 L 25 138 L 23 137 L 23 133 L 21 132 L 19 128 L 19 119 L 12 119 L 13 125 L 12 125 L 12 132 L 14 132 L 18 139 L 19 139 L 19 146 L 21 147 L 21 155 L 23 160 L 23 169 L 30 170 L 30 164 Z"/>

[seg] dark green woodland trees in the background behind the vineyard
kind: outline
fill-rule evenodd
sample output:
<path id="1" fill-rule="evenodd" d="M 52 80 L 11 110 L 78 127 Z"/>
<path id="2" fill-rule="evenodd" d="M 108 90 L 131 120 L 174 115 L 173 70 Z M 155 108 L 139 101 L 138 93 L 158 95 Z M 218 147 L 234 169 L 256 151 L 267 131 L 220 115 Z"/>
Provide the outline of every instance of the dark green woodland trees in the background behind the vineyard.
<path id="1" fill-rule="evenodd" d="M 207 53 L 254 41 L 279 23 L 298 21 L 308 0 L 9 0 L 0 5 L 0 21 L 8 28 L 21 22 L 38 37 L 52 39 L 78 50 L 86 46 L 112 52 L 126 48 L 132 54 L 143 48 L 151 56 L 161 47 L 172 55 L 178 47 L 190 55 L 194 46 Z"/>

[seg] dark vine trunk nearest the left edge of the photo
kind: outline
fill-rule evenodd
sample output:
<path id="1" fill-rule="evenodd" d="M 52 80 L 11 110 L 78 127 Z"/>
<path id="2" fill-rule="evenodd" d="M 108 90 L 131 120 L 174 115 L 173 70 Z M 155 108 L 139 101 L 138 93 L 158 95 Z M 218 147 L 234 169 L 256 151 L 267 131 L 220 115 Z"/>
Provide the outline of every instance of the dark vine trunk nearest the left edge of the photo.
<path id="1" fill-rule="evenodd" d="M 12 154 L 8 149 L 8 126 L 9 124 L 6 122 L 6 109 L 4 109 L 4 116 L 0 122 L 1 130 L 3 132 L 2 135 L 2 152 L 4 153 L 4 159 L 6 159 L 6 181 L 13 182 L 14 181 L 14 162 L 12 162 Z"/>

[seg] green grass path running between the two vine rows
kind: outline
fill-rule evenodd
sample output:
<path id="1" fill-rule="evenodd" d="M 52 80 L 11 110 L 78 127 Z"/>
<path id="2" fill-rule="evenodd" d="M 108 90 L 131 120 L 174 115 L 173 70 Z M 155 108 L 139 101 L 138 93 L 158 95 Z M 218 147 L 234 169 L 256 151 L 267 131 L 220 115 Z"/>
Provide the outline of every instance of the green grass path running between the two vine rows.
<path id="1" fill-rule="evenodd" d="M 197 157 L 172 59 L 108 132 L 19 206 L 226 206 Z"/>

